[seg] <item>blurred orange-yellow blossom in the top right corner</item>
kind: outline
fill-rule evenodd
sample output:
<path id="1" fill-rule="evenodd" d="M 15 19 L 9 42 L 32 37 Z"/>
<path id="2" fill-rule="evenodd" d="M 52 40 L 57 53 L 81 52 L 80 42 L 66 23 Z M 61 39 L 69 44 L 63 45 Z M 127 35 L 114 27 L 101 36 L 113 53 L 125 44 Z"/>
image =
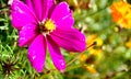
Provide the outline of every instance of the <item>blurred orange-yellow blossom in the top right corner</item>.
<path id="1" fill-rule="evenodd" d="M 131 4 L 127 1 L 116 1 L 110 7 L 112 21 L 124 29 L 131 29 Z"/>

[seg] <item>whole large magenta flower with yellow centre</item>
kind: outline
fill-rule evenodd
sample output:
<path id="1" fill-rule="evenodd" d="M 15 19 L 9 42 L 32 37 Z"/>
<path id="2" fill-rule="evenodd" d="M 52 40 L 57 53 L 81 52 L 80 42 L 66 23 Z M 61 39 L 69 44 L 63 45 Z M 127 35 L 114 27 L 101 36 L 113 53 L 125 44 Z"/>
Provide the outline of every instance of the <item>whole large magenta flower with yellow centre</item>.
<path id="1" fill-rule="evenodd" d="M 45 65 L 46 47 L 60 71 L 66 69 L 60 47 L 70 52 L 85 49 L 85 36 L 73 29 L 74 19 L 67 2 L 14 0 L 11 9 L 12 24 L 19 31 L 19 46 L 28 46 L 28 60 L 38 72 Z"/>

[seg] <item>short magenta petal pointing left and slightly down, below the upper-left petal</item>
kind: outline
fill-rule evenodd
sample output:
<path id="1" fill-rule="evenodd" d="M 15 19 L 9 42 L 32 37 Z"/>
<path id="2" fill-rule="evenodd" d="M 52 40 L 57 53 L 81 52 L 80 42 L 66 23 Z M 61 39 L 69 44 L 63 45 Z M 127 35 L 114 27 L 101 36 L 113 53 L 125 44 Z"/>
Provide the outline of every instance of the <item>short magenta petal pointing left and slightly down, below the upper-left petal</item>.
<path id="1" fill-rule="evenodd" d="M 34 24 L 27 24 L 20 31 L 19 46 L 25 46 L 29 44 L 38 35 L 37 26 Z"/>

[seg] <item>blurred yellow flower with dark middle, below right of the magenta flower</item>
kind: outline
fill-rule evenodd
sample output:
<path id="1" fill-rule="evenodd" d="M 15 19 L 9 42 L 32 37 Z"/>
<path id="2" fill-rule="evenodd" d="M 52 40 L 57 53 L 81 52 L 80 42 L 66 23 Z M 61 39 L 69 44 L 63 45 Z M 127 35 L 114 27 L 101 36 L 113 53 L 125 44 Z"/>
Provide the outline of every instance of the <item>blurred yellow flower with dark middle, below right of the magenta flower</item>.
<path id="1" fill-rule="evenodd" d="M 88 35 L 86 38 L 87 47 L 91 46 L 94 42 L 96 42 L 96 46 L 103 45 L 103 40 L 98 37 L 96 34 Z M 80 63 L 83 64 L 83 68 L 85 68 L 91 74 L 96 74 L 95 65 L 98 64 L 103 56 L 103 50 L 98 48 L 90 47 L 88 54 L 82 54 L 80 56 Z"/>

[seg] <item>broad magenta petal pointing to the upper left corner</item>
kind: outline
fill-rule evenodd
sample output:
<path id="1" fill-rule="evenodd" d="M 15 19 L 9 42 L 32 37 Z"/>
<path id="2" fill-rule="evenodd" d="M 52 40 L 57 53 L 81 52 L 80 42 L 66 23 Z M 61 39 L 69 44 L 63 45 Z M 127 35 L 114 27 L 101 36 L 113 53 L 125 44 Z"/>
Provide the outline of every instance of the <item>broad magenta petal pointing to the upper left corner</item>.
<path id="1" fill-rule="evenodd" d="M 23 25 L 37 22 L 33 11 L 23 2 L 14 0 L 11 9 L 11 22 L 15 29 L 21 30 Z"/>

